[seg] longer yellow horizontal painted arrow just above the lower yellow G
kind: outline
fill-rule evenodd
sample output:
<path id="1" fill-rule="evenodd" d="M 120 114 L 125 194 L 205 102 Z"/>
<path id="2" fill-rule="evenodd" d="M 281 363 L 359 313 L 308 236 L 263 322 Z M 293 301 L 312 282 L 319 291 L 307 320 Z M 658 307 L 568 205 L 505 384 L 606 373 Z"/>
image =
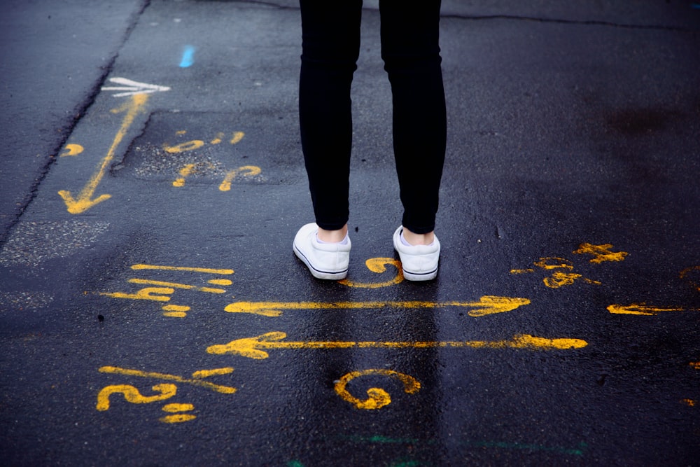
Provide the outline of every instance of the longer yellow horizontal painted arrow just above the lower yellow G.
<path id="1" fill-rule="evenodd" d="M 285 333 L 273 332 L 233 340 L 228 344 L 212 345 L 207 348 L 209 354 L 240 355 L 255 360 L 262 360 L 269 355 L 262 349 L 430 349 L 436 347 L 471 347 L 473 349 L 528 349 L 528 350 L 565 350 L 581 349 L 588 343 L 580 339 L 547 339 L 534 337 L 527 334 L 514 335 L 512 340 L 500 340 L 494 342 L 472 341 L 447 341 L 447 342 L 335 342 L 335 341 L 311 341 L 311 342 L 283 342 L 287 337 Z"/>

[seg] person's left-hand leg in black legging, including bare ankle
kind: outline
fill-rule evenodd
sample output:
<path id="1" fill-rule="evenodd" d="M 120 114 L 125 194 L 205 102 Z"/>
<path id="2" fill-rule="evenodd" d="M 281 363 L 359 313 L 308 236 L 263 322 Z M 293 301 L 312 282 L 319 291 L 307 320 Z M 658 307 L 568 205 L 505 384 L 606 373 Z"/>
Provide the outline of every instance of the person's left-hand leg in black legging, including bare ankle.
<path id="1" fill-rule="evenodd" d="M 360 50 L 362 1 L 300 0 L 300 6 L 302 151 L 319 237 L 333 242 L 345 236 L 349 217 L 350 87 Z"/>

